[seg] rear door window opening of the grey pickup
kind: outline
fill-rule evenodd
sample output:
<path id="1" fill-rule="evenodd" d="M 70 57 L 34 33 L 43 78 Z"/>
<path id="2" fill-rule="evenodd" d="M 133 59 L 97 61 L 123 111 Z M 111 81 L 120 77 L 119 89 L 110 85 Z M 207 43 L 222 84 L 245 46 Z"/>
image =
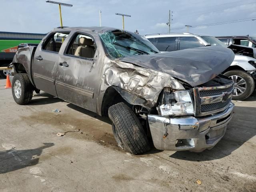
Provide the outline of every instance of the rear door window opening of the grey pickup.
<path id="1" fill-rule="evenodd" d="M 44 42 L 42 49 L 58 53 L 60 47 L 69 33 L 54 33 Z"/>

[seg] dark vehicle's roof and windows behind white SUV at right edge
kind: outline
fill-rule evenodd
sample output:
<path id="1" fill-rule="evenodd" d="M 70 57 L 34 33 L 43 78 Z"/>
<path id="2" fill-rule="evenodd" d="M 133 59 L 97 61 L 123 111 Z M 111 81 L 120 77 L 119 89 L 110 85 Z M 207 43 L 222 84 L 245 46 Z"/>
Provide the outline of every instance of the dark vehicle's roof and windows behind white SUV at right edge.
<path id="1" fill-rule="evenodd" d="M 219 36 L 216 37 L 221 42 L 223 42 L 226 46 L 234 45 L 242 45 L 247 47 L 256 47 L 256 37 L 252 36 Z"/>

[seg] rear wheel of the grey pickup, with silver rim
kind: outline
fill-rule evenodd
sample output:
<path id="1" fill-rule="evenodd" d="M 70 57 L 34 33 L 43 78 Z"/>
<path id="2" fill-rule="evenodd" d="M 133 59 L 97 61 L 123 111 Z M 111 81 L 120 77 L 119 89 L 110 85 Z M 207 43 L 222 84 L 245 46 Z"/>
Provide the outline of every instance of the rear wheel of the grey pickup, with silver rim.
<path id="1" fill-rule="evenodd" d="M 12 80 L 12 96 L 19 105 L 28 104 L 33 96 L 34 86 L 31 84 L 28 75 L 18 73 Z"/>

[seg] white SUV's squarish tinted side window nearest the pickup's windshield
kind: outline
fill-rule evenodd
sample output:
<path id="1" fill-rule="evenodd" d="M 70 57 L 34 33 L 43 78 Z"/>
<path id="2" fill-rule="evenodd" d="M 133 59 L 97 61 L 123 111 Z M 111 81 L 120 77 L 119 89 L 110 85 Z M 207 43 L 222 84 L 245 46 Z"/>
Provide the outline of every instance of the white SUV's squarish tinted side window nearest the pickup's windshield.
<path id="1" fill-rule="evenodd" d="M 176 37 L 158 38 L 156 48 L 160 51 L 176 51 Z"/>

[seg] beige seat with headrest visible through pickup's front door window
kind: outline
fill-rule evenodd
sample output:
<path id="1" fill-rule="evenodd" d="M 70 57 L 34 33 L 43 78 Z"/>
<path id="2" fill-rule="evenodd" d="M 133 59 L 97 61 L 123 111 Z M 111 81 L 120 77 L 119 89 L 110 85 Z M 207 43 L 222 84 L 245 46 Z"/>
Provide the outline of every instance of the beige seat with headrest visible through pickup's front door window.
<path id="1" fill-rule="evenodd" d="M 91 47 L 94 44 L 92 39 L 81 37 L 78 40 L 78 47 L 75 50 L 75 56 L 93 58 L 94 57 L 94 48 Z"/>

